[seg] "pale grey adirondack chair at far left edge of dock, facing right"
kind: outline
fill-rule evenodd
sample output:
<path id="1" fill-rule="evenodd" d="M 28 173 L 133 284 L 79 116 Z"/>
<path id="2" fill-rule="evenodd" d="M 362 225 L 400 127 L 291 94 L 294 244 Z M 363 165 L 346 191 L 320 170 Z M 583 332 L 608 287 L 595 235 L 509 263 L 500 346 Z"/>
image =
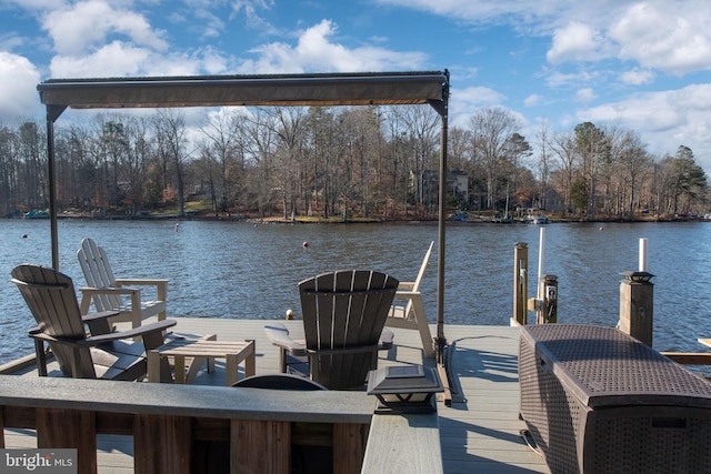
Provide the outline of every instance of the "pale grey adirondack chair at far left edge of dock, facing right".
<path id="1" fill-rule="evenodd" d="M 77 259 L 87 280 L 87 286 L 79 289 L 82 314 L 89 312 L 89 305 L 93 302 L 97 312 L 118 311 L 112 321 L 130 321 L 133 327 L 140 326 L 142 320 L 150 316 L 158 316 L 159 321 L 166 319 L 168 280 L 114 278 L 106 252 L 89 238 L 81 241 Z M 141 290 L 131 286 L 153 286 L 156 300 L 142 301 Z"/>

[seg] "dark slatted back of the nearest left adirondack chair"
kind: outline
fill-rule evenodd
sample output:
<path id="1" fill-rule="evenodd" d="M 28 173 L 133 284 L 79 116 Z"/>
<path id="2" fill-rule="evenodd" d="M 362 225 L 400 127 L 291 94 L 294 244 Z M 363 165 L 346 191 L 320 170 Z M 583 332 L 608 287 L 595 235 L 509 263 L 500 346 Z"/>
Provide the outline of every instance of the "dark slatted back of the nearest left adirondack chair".
<path id="1" fill-rule="evenodd" d="M 14 268 L 11 275 L 44 334 L 68 341 L 86 339 L 74 285 L 69 276 L 53 269 L 31 264 Z M 71 349 L 58 343 L 49 345 L 66 375 L 72 375 L 72 360 L 76 359 L 79 376 L 96 377 L 89 349 Z"/>

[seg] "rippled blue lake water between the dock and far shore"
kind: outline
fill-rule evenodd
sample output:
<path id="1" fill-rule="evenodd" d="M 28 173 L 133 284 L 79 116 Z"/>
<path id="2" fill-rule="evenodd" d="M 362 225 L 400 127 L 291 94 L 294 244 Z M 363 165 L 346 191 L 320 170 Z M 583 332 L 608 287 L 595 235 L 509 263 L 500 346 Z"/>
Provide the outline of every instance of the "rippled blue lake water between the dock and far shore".
<path id="1" fill-rule="evenodd" d="M 602 230 L 601 230 L 602 226 Z M 321 272 L 373 269 L 411 281 L 435 241 L 422 284 L 435 321 L 437 225 L 251 224 L 236 222 L 59 222 L 60 270 L 84 284 L 76 253 L 84 236 L 104 246 L 116 276 L 168 278 L 170 316 L 283 319 L 299 314 L 297 283 Z M 444 320 L 507 325 L 512 313 L 513 251 L 529 245 L 529 296 L 535 293 L 540 226 L 447 229 Z M 711 336 L 711 223 L 580 223 L 545 226 L 543 273 L 558 276 L 559 322 L 614 326 L 621 272 L 638 269 L 648 239 L 654 283 L 654 347 L 701 351 Z M 303 242 L 309 242 L 308 248 Z M 0 363 L 30 353 L 32 317 L 10 271 L 51 265 L 49 221 L 0 220 Z M 529 313 L 529 321 L 534 314 Z M 457 334 L 444 334 L 449 341 Z"/>

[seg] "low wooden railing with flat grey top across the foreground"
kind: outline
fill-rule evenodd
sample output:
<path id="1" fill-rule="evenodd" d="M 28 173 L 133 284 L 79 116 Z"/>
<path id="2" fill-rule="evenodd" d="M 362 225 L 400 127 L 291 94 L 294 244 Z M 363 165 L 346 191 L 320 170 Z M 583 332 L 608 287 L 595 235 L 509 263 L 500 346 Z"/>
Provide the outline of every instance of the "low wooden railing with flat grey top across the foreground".
<path id="1" fill-rule="evenodd" d="M 302 446 L 332 453 L 334 473 L 395 473 L 403 462 L 441 473 L 437 413 L 372 423 L 374 404 L 363 392 L 0 375 L 0 426 L 37 430 L 39 448 L 76 448 L 79 473 L 97 472 L 98 434 L 133 436 L 137 474 L 204 472 L 196 460 L 211 443 L 232 473 L 288 473 Z"/>

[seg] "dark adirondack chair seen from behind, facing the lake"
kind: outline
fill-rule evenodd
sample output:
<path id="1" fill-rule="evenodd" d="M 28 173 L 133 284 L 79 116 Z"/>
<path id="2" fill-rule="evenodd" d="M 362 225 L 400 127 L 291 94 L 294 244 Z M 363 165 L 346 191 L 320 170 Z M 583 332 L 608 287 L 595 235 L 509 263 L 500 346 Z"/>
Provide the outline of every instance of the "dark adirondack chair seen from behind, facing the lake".
<path id="1" fill-rule="evenodd" d="M 311 380 L 331 390 L 362 386 L 378 366 L 378 351 L 392 344 L 381 337 L 398 280 L 384 273 L 348 270 L 323 273 L 299 283 L 306 344 L 283 324 L 266 327 L 281 360 L 307 355 Z M 282 363 L 283 365 L 283 363 Z"/>

